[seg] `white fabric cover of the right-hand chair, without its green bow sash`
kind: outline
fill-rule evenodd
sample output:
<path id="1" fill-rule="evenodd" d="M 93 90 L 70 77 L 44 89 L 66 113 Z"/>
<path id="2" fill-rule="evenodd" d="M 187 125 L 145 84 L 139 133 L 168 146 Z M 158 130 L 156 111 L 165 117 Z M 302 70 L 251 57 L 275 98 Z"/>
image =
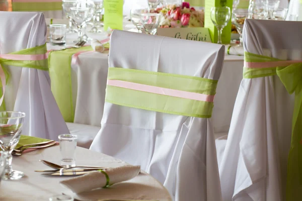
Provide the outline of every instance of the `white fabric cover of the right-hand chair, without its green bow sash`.
<path id="1" fill-rule="evenodd" d="M 301 60 L 301 30 L 299 22 L 249 19 L 244 49 Z M 223 200 L 285 200 L 293 98 L 277 75 L 242 80 L 219 165 Z"/>

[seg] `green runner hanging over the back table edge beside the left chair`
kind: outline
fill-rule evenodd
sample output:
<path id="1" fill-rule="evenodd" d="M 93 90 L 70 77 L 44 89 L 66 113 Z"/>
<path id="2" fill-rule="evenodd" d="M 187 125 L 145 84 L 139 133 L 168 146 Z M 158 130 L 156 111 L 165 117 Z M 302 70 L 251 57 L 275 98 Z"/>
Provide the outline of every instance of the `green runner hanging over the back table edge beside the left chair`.
<path id="1" fill-rule="evenodd" d="M 91 46 L 52 51 L 48 55 L 51 91 L 65 122 L 73 122 L 74 109 L 71 88 L 71 57 L 80 51 L 92 51 Z"/>

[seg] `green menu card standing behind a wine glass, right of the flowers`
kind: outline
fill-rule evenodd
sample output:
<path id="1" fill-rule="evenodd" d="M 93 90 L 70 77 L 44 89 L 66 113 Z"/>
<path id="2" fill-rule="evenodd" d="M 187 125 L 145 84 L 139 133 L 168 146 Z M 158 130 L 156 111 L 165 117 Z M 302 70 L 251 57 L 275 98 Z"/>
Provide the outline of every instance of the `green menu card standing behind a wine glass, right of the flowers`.
<path id="1" fill-rule="evenodd" d="M 205 1 L 205 12 L 204 12 L 204 27 L 209 28 L 211 39 L 213 43 L 217 43 L 218 40 L 218 32 L 211 20 L 211 8 L 212 7 L 229 7 L 231 9 L 232 16 L 232 7 L 233 0 L 207 0 Z M 221 41 L 223 44 L 230 44 L 231 42 L 231 31 L 232 31 L 232 21 L 230 21 L 228 25 L 226 25 L 221 34 Z"/>

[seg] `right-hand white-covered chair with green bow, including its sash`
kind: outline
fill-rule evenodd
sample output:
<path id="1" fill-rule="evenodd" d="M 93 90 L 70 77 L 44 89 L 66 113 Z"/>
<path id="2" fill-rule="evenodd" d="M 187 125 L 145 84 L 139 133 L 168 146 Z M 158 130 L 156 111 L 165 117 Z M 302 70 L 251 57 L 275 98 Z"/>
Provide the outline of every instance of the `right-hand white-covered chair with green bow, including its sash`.
<path id="1" fill-rule="evenodd" d="M 219 165 L 223 200 L 301 199 L 300 30 L 300 22 L 245 21 L 244 78 Z"/>

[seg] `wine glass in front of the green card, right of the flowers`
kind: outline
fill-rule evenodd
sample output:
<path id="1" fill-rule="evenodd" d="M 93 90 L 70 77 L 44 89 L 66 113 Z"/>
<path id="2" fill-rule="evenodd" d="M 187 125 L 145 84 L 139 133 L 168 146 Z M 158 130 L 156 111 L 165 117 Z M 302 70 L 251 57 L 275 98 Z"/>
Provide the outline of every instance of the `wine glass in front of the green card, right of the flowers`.
<path id="1" fill-rule="evenodd" d="M 218 30 L 218 44 L 221 42 L 222 29 L 228 24 L 231 18 L 231 10 L 229 7 L 212 7 L 211 8 L 211 20 Z"/>

